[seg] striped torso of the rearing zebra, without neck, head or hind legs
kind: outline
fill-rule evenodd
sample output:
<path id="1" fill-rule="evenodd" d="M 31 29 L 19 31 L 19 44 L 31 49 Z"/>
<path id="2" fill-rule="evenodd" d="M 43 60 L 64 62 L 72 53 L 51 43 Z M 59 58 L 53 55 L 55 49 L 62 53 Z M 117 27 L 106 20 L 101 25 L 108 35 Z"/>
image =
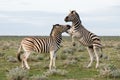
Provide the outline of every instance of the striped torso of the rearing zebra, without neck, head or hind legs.
<path id="1" fill-rule="evenodd" d="M 70 34 L 72 38 L 77 38 L 84 46 L 93 46 L 97 44 L 97 46 L 102 47 L 100 38 L 97 35 L 85 29 L 82 24 L 80 26 L 78 30 L 74 30 L 74 27 L 70 28 L 67 31 L 68 34 Z"/>

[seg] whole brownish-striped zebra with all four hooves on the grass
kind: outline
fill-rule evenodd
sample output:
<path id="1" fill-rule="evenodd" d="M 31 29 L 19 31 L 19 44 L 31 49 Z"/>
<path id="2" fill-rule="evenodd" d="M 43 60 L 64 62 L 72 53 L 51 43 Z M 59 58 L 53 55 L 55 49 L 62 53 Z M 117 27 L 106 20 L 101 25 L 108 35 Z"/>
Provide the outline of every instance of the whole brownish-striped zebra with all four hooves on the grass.
<path id="1" fill-rule="evenodd" d="M 27 63 L 27 58 L 29 57 L 32 51 L 35 51 L 38 53 L 50 53 L 49 69 L 51 70 L 52 67 L 55 68 L 56 52 L 60 47 L 60 43 L 62 40 L 62 33 L 66 32 L 68 29 L 70 29 L 69 25 L 56 24 L 56 25 L 53 25 L 53 28 L 50 33 L 50 37 L 48 38 L 36 38 L 36 37 L 24 38 L 21 41 L 21 45 L 17 53 L 17 58 L 19 61 L 21 61 L 21 58 L 20 58 L 21 48 L 24 51 L 24 54 L 22 57 L 22 67 L 30 69 Z"/>

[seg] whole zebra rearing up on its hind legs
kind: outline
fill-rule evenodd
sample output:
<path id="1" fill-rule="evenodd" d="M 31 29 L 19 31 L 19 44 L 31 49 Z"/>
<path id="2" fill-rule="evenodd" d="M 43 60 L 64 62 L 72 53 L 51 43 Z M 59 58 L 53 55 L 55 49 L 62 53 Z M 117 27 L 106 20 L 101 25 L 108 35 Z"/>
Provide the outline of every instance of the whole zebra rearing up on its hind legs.
<path id="1" fill-rule="evenodd" d="M 91 67 L 95 54 L 97 60 L 96 68 L 98 68 L 99 53 L 102 51 L 102 45 L 99 37 L 84 28 L 78 13 L 74 10 L 71 11 L 64 20 L 66 22 L 72 22 L 72 27 L 68 30 L 68 33 L 72 36 L 72 42 L 74 42 L 74 38 L 77 38 L 82 45 L 87 47 L 90 56 L 90 63 L 87 67 Z"/>

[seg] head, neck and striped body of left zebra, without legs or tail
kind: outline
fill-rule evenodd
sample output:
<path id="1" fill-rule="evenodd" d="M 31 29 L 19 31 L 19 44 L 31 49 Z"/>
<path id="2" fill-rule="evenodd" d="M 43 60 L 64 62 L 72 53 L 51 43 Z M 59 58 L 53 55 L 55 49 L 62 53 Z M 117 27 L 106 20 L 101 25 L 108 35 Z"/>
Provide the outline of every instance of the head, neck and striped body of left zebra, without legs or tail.
<path id="1" fill-rule="evenodd" d="M 24 51 L 35 51 L 39 53 L 48 53 L 50 50 L 55 52 L 60 47 L 62 33 L 70 28 L 69 25 L 53 25 L 50 36 L 48 38 L 28 37 L 24 38 L 21 45 Z"/>

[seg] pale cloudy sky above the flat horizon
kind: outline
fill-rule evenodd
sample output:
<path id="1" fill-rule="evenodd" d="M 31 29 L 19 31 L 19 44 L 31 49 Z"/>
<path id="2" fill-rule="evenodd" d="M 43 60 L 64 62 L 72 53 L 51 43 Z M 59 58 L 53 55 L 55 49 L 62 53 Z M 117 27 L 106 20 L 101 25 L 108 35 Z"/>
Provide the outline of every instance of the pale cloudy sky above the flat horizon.
<path id="1" fill-rule="evenodd" d="M 0 35 L 49 35 L 76 10 L 86 29 L 120 36 L 120 0 L 0 0 Z"/>

